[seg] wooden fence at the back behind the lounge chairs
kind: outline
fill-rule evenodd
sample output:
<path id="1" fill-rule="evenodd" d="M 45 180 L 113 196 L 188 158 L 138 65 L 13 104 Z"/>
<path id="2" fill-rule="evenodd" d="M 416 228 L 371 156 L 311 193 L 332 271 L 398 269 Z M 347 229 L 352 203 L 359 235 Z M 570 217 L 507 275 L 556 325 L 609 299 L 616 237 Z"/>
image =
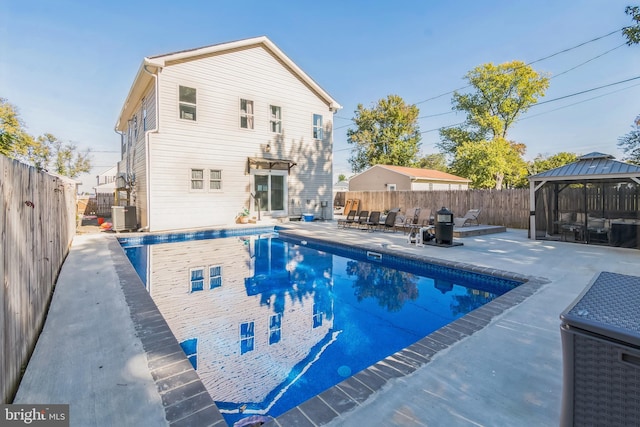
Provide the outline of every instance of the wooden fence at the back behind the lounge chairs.
<path id="1" fill-rule="evenodd" d="M 346 200 L 360 200 L 360 210 L 385 211 L 429 208 L 435 216 L 443 206 L 455 217 L 469 209 L 482 209 L 481 224 L 529 228 L 529 189 L 446 191 L 347 191 Z"/>

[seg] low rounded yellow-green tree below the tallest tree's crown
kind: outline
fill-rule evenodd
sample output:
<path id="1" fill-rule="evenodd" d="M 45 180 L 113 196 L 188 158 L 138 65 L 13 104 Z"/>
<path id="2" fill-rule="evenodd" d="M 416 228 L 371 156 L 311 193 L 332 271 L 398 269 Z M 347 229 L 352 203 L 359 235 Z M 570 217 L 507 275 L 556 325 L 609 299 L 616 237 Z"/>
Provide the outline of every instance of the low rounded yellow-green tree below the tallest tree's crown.
<path id="1" fill-rule="evenodd" d="M 523 149 L 504 138 L 466 141 L 457 147 L 451 170 L 469 178 L 473 188 L 522 187 L 527 176 Z"/>

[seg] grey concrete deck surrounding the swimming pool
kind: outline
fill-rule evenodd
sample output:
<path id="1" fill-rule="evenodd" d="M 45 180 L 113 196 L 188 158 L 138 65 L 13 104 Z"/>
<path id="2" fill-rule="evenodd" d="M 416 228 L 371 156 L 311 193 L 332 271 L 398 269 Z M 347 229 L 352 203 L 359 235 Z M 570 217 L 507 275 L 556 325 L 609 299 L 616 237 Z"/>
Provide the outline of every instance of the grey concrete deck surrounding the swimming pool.
<path id="1" fill-rule="evenodd" d="M 337 229 L 335 221 L 286 228 L 301 238 L 513 272 L 540 279 L 541 285 L 367 399 L 350 396 L 357 404 L 329 409 L 335 413 L 326 417 L 301 405 L 287 424 L 285 418 L 271 423 L 281 427 L 320 425 L 322 418 L 330 420 L 324 425 L 358 427 L 558 425 L 559 315 L 597 273 L 634 275 L 640 261 L 638 250 L 532 241 L 526 230 L 466 237 L 459 239 L 463 246 L 440 248 L 410 245 L 401 232 Z M 123 285 L 135 277 L 118 247 L 110 233 L 75 237 L 14 403 L 69 403 L 73 426 L 225 426 L 184 366 L 175 338 L 162 335 L 163 320 L 144 315 L 152 312 L 144 309 L 146 291 L 131 295 L 131 284 Z"/>

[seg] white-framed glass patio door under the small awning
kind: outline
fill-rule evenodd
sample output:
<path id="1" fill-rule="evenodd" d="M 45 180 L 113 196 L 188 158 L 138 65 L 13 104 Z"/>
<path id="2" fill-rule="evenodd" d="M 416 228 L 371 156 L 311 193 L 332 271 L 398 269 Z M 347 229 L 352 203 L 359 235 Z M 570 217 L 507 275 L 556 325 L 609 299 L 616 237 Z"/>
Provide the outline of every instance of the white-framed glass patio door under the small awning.
<path id="1" fill-rule="evenodd" d="M 260 212 L 271 216 L 285 216 L 287 214 L 287 172 L 254 170 L 253 189 L 256 195 L 257 211 L 260 204 Z"/>

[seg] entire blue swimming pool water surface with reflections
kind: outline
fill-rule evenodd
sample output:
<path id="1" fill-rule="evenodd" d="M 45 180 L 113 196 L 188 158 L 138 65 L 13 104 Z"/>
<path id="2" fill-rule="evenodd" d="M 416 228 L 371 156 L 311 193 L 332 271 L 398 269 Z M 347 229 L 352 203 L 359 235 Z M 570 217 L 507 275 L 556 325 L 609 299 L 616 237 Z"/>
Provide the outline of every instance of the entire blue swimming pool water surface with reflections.
<path id="1" fill-rule="evenodd" d="M 121 243 L 230 425 L 277 417 L 520 284 L 274 233 L 171 240 Z"/>

